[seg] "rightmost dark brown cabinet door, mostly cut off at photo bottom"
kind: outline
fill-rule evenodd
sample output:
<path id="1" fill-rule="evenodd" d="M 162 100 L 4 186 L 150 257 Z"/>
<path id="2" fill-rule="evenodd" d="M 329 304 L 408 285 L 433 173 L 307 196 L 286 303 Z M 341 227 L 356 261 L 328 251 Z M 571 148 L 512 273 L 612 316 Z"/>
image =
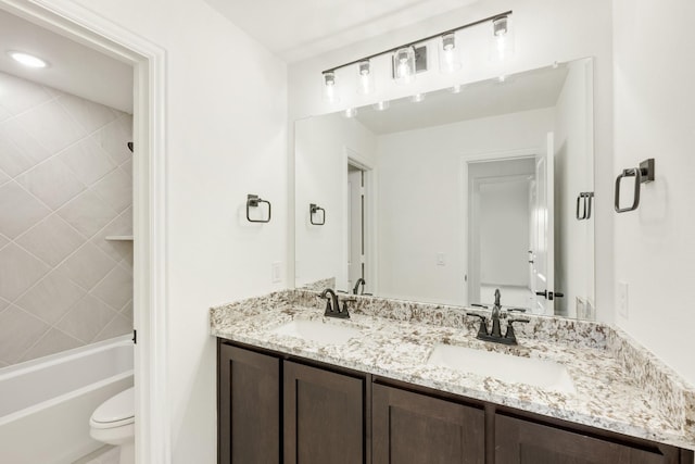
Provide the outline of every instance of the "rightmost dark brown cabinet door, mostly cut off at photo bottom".
<path id="1" fill-rule="evenodd" d="M 678 464 L 671 447 L 636 447 L 497 414 L 496 464 Z"/>

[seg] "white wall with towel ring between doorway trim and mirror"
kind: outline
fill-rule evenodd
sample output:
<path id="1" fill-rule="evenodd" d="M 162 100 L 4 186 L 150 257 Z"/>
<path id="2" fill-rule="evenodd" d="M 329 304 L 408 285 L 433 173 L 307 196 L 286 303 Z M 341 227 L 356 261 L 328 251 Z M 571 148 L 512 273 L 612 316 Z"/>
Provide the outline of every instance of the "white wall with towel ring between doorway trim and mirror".
<path id="1" fill-rule="evenodd" d="M 166 49 L 173 462 L 213 463 L 207 308 L 287 286 L 270 284 L 287 256 L 286 65 L 203 0 L 75 2 Z M 273 222 L 242 218 L 247 193 L 273 202 Z"/>

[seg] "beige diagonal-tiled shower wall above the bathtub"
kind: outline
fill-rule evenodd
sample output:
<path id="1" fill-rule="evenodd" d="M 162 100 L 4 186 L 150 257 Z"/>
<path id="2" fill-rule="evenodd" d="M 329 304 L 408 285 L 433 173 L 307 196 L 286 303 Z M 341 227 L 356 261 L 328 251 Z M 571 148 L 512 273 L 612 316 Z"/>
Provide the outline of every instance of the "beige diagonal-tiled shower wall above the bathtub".
<path id="1" fill-rule="evenodd" d="M 132 329 L 132 117 L 0 73 L 0 367 Z"/>

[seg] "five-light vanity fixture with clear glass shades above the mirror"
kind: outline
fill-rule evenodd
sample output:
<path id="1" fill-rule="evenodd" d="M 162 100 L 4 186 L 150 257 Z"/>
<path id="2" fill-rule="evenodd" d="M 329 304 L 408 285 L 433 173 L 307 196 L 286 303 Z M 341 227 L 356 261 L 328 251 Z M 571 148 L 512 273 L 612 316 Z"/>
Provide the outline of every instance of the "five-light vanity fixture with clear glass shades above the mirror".
<path id="1" fill-rule="evenodd" d="M 440 70 L 444 73 L 453 73 L 462 67 L 460 43 L 456 33 L 468 27 L 491 23 L 493 33 L 492 55 L 504 59 L 511 54 L 514 50 L 513 29 L 510 26 L 511 10 L 504 13 L 488 16 L 472 23 L 465 24 L 454 29 L 444 30 L 419 40 L 414 40 L 369 57 L 361 58 L 339 66 L 324 71 L 324 100 L 329 102 L 338 101 L 336 95 L 336 71 L 352 65 L 357 65 L 357 77 L 359 93 L 370 93 L 374 91 L 375 78 L 371 59 L 384 54 L 392 54 L 393 79 L 397 84 L 408 84 L 415 80 L 417 72 L 427 71 L 427 43 L 430 40 L 440 40 Z"/>

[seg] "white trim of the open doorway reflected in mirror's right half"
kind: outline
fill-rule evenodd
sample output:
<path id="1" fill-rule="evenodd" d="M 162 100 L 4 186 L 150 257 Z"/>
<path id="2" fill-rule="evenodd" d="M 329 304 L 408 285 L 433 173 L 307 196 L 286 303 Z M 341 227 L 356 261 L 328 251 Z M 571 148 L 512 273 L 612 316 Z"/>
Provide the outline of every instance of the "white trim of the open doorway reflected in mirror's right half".
<path id="1" fill-rule="evenodd" d="M 470 210 L 470 185 L 468 181 L 468 165 L 471 163 L 484 163 L 492 161 L 506 161 L 506 160 L 519 160 L 525 158 L 535 158 L 538 155 L 538 148 L 522 148 L 515 150 L 501 150 L 501 151 L 486 151 L 486 152 L 471 152 L 468 154 L 463 154 L 459 158 L 460 168 L 458 172 L 460 173 L 460 191 L 458 192 L 459 198 L 459 230 L 462 231 L 462 253 L 460 256 L 462 263 L 464 263 L 464 275 L 466 276 L 466 305 L 470 304 L 470 294 L 471 289 L 473 288 L 475 279 L 472 279 L 470 269 L 472 266 L 471 259 L 472 253 L 469 253 L 469 250 L 472 249 L 473 243 L 472 237 L 469 234 L 469 210 Z M 480 283 L 478 281 L 478 285 Z M 477 303 L 477 302 L 476 302 Z"/>

